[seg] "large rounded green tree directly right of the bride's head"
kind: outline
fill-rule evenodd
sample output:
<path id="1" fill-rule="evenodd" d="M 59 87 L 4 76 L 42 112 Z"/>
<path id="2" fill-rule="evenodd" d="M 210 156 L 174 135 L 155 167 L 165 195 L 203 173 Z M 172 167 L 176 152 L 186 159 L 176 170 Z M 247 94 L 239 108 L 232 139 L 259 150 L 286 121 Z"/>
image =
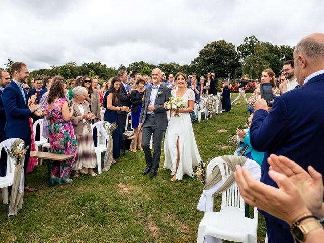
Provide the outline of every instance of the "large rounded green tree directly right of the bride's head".
<path id="1" fill-rule="evenodd" d="M 235 46 L 224 40 L 207 44 L 195 59 L 198 75 L 215 72 L 216 77 L 233 77 L 235 69 L 240 66 Z"/>

